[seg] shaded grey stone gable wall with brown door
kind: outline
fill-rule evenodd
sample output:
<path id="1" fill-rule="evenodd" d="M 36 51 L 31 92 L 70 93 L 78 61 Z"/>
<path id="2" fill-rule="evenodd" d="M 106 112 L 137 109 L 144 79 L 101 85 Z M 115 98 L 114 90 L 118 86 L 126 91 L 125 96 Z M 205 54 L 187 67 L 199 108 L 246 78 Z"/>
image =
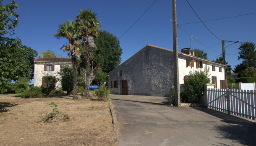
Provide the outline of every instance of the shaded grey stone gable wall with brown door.
<path id="1" fill-rule="evenodd" d="M 112 93 L 120 94 L 120 83 L 127 80 L 128 94 L 169 97 L 173 83 L 172 62 L 172 52 L 146 46 L 108 74 L 108 86 L 111 81 L 118 81 L 118 88 L 112 88 Z"/>

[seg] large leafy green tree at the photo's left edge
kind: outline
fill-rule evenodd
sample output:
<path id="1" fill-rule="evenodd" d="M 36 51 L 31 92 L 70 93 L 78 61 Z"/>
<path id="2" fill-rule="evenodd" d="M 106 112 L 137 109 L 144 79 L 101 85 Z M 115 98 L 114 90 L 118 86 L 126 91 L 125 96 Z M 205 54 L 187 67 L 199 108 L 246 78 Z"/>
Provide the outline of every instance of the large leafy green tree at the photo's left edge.
<path id="1" fill-rule="evenodd" d="M 14 28 L 18 25 L 18 15 L 15 9 L 18 4 L 14 1 L 2 5 L 0 0 L 0 93 L 8 91 L 11 81 L 18 78 L 34 76 L 34 57 L 37 51 L 21 44 L 18 38 L 8 38 L 13 35 Z"/>

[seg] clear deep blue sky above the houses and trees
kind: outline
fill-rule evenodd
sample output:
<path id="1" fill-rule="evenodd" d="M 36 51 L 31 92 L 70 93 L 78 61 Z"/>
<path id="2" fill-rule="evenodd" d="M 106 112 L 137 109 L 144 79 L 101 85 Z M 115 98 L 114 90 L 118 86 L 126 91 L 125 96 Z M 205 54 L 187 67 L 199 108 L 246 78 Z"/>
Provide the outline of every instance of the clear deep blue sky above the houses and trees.
<path id="1" fill-rule="evenodd" d="M 73 20 L 79 9 L 91 9 L 98 14 L 101 29 L 107 30 L 118 38 L 141 16 L 154 0 L 16 0 L 19 25 L 15 33 L 24 45 L 36 49 L 38 54 L 47 49 L 55 54 L 66 53 L 60 50 L 66 40 L 53 37 L 58 24 Z M 256 0 L 189 0 L 202 20 L 255 13 Z M 10 0 L 4 0 L 4 4 Z M 122 62 L 138 52 L 146 44 L 172 50 L 172 0 L 157 0 L 147 13 L 122 38 Z M 185 0 L 177 0 L 178 24 L 199 21 Z M 205 22 L 217 37 L 223 40 L 256 42 L 256 14 L 242 17 Z M 191 48 L 200 48 L 208 54 L 208 59 L 216 59 L 222 54 L 221 41 L 217 40 L 201 23 L 180 25 L 185 31 L 197 38 L 191 41 Z M 189 47 L 190 36 L 178 28 L 178 49 Z M 229 45 L 230 43 L 225 43 Z M 226 49 L 226 60 L 235 67 L 238 60 L 240 43 Z"/>

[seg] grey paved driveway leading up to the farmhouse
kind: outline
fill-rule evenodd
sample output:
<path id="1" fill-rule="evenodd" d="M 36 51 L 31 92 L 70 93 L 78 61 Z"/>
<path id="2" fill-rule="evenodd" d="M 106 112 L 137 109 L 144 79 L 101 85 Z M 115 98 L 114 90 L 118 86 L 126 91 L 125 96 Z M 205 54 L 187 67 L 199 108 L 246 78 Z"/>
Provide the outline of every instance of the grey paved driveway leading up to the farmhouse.
<path id="1" fill-rule="evenodd" d="M 256 123 L 204 108 L 112 98 L 118 146 L 256 145 Z"/>

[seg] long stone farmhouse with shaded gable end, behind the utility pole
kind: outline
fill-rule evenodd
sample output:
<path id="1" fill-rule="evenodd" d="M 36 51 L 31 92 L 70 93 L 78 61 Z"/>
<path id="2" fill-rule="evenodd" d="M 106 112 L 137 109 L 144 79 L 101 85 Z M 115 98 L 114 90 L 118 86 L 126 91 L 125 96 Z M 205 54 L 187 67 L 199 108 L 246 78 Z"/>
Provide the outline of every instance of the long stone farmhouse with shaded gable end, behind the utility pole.
<path id="1" fill-rule="evenodd" d="M 190 48 L 178 55 L 180 84 L 190 71 L 209 68 L 214 87 L 225 88 L 225 65 L 196 57 Z M 146 45 L 108 73 L 108 86 L 115 94 L 170 97 L 170 86 L 174 83 L 173 58 L 172 50 Z"/>

